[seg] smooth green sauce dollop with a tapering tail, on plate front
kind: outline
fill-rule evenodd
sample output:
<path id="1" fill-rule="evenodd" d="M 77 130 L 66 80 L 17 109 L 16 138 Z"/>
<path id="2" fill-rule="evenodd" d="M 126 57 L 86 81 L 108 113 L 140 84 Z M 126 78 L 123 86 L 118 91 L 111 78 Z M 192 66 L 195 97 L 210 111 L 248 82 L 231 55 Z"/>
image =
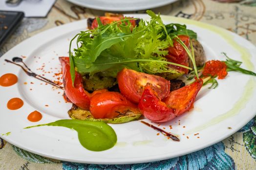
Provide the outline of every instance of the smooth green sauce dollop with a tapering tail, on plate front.
<path id="1" fill-rule="evenodd" d="M 78 133 L 78 139 L 82 146 L 90 151 L 110 149 L 117 141 L 117 136 L 112 127 L 100 121 L 64 119 L 47 124 L 29 126 L 24 129 L 37 126 L 63 126 L 74 129 Z"/>

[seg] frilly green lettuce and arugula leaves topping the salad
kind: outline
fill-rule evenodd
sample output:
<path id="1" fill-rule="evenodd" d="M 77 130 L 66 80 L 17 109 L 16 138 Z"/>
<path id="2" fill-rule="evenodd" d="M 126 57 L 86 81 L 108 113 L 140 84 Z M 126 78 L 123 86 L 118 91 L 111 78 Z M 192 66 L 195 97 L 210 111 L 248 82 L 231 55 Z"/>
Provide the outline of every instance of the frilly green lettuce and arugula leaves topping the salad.
<path id="1" fill-rule="evenodd" d="M 149 74 L 180 73 L 168 67 L 169 64 L 192 69 L 168 62 L 164 56 L 168 54 L 167 48 L 173 45 L 171 34 L 187 34 L 196 38 L 196 33 L 187 30 L 185 25 L 165 25 L 160 15 L 149 10 L 147 13 L 151 20 L 141 19 L 139 26 L 132 27 L 129 22 L 136 18 L 124 18 L 107 25 L 97 18 L 98 28 L 77 34 L 69 46 L 72 81 L 75 70 L 82 75 L 102 72 L 116 77 L 124 67 Z M 77 47 L 72 52 L 71 45 L 75 39 Z"/>

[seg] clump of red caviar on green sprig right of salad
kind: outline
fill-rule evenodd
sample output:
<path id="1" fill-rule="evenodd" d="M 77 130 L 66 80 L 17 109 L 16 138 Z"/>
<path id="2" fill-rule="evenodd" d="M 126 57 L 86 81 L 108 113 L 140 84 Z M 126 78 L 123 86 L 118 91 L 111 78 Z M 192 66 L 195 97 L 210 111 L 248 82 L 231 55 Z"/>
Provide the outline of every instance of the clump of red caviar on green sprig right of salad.
<path id="1" fill-rule="evenodd" d="M 205 63 L 204 76 L 218 76 L 218 79 L 224 79 L 227 74 L 227 65 L 224 62 L 211 60 Z"/>

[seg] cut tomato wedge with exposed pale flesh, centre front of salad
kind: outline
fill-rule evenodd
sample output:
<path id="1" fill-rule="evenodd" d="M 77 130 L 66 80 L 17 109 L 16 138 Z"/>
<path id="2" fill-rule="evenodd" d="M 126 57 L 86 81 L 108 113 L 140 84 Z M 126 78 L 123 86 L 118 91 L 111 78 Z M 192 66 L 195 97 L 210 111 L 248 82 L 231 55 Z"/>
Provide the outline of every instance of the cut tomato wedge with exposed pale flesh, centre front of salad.
<path id="1" fill-rule="evenodd" d="M 124 68 L 117 74 L 117 82 L 121 93 L 131 102 L 138 103 L 145 85 L 152 85 L 152 89 L 160 99 L 166 98 L 170 93 L 170 81 L 163 77 L 137 72 Z"/>

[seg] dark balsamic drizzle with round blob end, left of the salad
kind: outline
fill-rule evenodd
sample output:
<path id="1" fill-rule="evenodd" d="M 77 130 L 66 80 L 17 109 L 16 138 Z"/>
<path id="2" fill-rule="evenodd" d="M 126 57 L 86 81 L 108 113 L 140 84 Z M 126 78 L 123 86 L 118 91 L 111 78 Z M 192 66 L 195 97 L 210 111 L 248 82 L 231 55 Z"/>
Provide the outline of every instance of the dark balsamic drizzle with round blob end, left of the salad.
<path id="1" fill-rule="evenodd" d="M 60 88 L 60 89 L 64 89 L 63 86 L 58 85 L 58 84 L 54 83 L 53 81 L 51 81 L 51 80 L 49 80 L 49 79 L 46 79 L 46 78 L 42 77 L 41 75 L 38 75 L 38 74 L 34 73 L 33 71 L 31 71 L 31 69 L 27 67 L 27 65 L 22 61 L 22 58 L 20 58 L 20 57 L 13 57 L 13 58 L 12 58 L 12 61 L 5 59 L 5 61 L 6 61 L 7 63 L 12 63 L 12 64 L 15 64 L 15 65 L 21 67 L 21 68 L 23 69 L 23 71 L 24 71 L 28 76 L 35 77 L 36 79 L 41 80 L 41 81 L 43 81 L 43 82 L 45 82 L 45 83 L 48 83 L 48 84 L 50 84 L 50 85 L 54 85 L 54 86 L 56 86 L 56 87 L 58 87 L 58 88 Z M 17 63 L 19 63 L 19 62 L 21 62 L 21 63 L 25 66 L 25 68 L 24 68 L 23 66 L 21 66 L 20 64 L 17 64 Z"/>

